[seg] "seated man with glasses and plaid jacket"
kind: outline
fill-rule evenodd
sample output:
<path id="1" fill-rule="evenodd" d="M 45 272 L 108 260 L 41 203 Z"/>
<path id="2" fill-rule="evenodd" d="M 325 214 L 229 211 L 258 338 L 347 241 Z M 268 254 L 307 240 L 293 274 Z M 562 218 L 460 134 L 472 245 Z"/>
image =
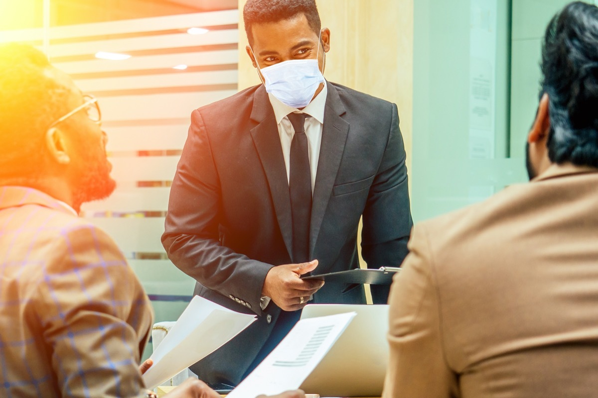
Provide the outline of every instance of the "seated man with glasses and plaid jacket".
<path id="1" fill-rule="evenodd" d="M 147 396 L 151 303 L 77 217 L 115 187 L 97 100 L 24 45 L 0 46 L 0 87 L 0 396 Z M 169 396 L 219 394 L 190 379 Z"/>

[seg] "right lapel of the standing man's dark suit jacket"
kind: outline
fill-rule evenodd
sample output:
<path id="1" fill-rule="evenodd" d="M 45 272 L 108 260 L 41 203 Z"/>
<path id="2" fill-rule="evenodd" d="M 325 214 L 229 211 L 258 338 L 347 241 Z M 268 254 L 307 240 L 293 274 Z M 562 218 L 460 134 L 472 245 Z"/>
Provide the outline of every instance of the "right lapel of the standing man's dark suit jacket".
<path id="1" fill-rule="evenodd" d="M 310 223 L 310 258 L 313 258 L 316 241 L 328 207 L 328 200 L 332 194 L 332 186 L 343 157 L 344 145 L 349 133 L 349 123 L 341 115 L 346 113 L 336 88 L 327 82 L 328 96 L 324 110 L 324 125 L 322 128 L 322 143 L 318 160 L 316 184 L 313 189 L 312 220 Z"/>

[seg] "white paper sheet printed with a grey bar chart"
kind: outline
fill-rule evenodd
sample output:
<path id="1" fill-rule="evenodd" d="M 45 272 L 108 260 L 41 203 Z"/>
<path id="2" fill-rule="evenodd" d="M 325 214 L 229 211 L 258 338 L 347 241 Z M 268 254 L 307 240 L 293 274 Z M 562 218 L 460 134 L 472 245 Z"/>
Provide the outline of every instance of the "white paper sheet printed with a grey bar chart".
<path id="1" fill-rule="evenodd" d="M 301 319 L 227 398 L 254 398 L 299 388 L 355 315 L 349 312 Z"/>

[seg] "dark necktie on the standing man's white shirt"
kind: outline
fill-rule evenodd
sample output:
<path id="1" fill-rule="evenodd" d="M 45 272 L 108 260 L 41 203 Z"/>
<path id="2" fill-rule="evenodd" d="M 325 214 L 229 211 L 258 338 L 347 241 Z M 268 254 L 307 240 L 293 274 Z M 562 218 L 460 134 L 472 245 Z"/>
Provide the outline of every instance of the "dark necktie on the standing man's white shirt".
<path id="1" fill-rule="evenodd" d="M 307 153 L 304 113 L 289 113 L 295 130 L 289 156 L 289 192 L 293 221 L 293 262 L 309 261 L 309 224 L 312 217 L 312 175 Z"/>

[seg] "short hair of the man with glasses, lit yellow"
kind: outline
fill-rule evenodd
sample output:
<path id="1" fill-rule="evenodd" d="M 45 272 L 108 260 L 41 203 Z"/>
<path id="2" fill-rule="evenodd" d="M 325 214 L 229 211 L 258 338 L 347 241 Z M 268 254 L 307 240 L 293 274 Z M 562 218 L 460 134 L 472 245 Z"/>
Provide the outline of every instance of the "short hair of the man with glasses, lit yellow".
<path id="1" fill-rule="evenodd" d="M 30 45 L 0 45 L 0 181 L 38 175 L 45 131 L 68 112 L 68 91 L 51 68 Z"/>

